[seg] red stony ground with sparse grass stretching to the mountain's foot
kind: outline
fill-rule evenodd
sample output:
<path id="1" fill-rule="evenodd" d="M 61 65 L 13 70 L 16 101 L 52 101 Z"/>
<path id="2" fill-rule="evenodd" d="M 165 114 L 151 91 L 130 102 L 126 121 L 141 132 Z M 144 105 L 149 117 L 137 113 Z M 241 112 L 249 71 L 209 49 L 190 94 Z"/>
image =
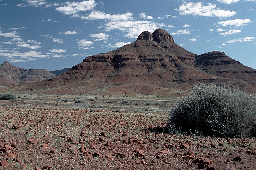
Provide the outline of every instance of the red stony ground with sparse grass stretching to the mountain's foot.
<path id="1" fill-rule="evenodd" d="M 166 128 L 179 98 L 17 96 L 0 100 L 0 169 L 256 169 L 255 138 Z"/>

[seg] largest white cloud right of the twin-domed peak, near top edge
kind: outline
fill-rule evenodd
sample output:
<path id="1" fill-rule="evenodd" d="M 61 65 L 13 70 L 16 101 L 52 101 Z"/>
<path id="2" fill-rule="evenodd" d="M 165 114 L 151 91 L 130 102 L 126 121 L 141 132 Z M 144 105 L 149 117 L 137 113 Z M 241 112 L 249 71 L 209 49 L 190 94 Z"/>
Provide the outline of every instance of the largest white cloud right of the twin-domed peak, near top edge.
<path id="1" fill-rule="evenodd" d="M 202 2 L 193 3 L 193 2 L 184 2 L 184 4 L 180 5 L 178 9 L 180 11 L 180 15 L 199 15 L 206 17 L 231 17 L 236 14 L 235 11 L 225 11 L 220 8 L 217 8 L 216 4 L 209 3 L 208 6 L 203 6 Z"/>

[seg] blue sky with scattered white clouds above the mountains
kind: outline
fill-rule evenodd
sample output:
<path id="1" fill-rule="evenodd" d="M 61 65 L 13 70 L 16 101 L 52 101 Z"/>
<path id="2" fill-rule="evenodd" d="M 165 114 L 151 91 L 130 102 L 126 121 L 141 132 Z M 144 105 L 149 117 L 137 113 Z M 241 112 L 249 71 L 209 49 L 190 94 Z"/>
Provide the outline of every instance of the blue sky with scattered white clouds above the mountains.
<path id="1" fill-rule="evenodd" d="M 162 28 L 195 54 L 256 69 L 256 0 L 0 0 L 0 63 L 60 70 Z"/>

